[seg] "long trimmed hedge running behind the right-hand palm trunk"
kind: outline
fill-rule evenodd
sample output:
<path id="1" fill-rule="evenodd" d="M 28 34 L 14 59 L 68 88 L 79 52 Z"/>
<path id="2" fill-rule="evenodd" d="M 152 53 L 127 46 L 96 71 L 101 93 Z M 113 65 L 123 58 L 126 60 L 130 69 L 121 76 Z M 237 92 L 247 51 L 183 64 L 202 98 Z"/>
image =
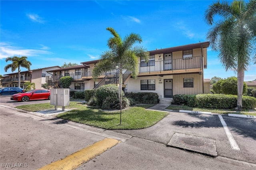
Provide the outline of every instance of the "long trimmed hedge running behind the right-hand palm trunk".
<path id="1" fill-rule="evenodd" d="M 189 107 L 233 109 L 237 105 L 237 95 L 199 94 L 199 95 L 174 95 L 173 103 Z M 243 109 L 256 108 L 256 98 L 243 96 Z"/>

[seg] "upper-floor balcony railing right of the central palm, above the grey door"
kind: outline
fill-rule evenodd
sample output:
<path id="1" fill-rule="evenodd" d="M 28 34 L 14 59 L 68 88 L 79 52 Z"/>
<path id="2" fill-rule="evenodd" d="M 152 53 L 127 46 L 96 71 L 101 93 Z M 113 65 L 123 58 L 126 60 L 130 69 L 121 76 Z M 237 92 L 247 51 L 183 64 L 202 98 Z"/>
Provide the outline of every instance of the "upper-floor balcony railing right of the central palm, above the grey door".
<path id="1" fill-rule="evenodd" d="M 138 67 L 139 73 L 194 68 L 202 68 L 202 58 L 200 56 L 186 59 L 150 61 L 148 63 L 139 63 Z"/>

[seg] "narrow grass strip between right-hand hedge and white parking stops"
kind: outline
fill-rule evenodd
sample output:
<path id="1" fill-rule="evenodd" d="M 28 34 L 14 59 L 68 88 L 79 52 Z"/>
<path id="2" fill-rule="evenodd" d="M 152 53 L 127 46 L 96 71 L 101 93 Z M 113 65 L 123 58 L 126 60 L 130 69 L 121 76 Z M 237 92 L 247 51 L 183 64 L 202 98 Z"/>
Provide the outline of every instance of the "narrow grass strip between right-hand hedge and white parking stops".
<path id="1" fill-rule="evenodd" d="M 170 105 L 166 109 L 172 109 L 172 110 L 187 110 L 187 111 L 203 111 L 203 112 L 212 112 L 212 113 L 220 113 L 220 114 L 240 114 L 240 115 L 254 115 L 256 116 L 256 109 L 252 109 L 250 111 L 234 111 L 231 109 L 204 109 L 204 108 L 198 108 L 198 107 L 188 107 L 185 105 Z"/>

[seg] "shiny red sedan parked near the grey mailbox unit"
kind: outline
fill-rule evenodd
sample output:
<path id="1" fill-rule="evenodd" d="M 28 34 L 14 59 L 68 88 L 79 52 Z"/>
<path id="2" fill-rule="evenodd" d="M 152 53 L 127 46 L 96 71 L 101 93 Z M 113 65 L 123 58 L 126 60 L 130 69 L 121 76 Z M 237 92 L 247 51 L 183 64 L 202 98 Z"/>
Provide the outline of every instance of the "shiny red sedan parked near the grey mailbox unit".
<path id="1" fill-rule="evenodd" d="M 11 100 L 30 101 L 30 100 L 50 100 L 50 90 L 34 89 L 26 93 L 15 94 L 11 96 Z"/>

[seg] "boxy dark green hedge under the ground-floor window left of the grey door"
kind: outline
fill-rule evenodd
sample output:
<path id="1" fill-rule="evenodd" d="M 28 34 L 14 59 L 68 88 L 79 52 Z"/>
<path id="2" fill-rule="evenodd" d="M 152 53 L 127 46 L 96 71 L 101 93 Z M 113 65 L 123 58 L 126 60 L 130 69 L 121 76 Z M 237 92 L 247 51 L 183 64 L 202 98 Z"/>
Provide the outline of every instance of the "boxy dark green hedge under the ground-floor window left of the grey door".
<path id="1" fill-rule="evenodd" d="M 157 93 L 125 93 L 125 97 L 133 99 L 136 103 L 156 104 L 159 102 Z"/>

